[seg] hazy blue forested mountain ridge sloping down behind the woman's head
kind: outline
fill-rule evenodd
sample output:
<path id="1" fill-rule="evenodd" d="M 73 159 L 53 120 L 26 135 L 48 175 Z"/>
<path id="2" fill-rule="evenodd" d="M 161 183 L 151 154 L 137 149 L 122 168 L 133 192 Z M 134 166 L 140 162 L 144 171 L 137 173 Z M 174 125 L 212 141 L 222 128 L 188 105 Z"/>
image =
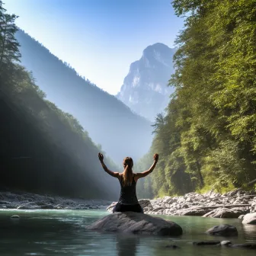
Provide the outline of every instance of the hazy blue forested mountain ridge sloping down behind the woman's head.
<path id="1" fill-rule="evenodd" d="M 110 158 L 120 163 L 127 155 L 136 160 L 148 151 L 152 142 L 149 120 L 79 76 L 23 30 L 18 30 L 16 38 L 21 44 L 21 64 L 33 73 L 46 98 L 77 118 Z"/>

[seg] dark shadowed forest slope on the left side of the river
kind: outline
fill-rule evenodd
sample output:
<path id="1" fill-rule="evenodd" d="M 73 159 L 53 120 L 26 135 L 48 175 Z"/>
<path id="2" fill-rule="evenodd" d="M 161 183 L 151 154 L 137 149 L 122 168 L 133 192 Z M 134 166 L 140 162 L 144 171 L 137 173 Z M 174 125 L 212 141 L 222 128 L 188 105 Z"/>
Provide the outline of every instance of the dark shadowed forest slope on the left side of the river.
<path id="1" fill-rule="evenodd" d="M 98 162 L 98 146 L 75 117 L 46 100 L 33 75 L 19 64 L 16 18 L 0 1 L 1 188 L 117 197 L 118 184 Z M 106 163 L 117 168 L 109 158 Z"/>

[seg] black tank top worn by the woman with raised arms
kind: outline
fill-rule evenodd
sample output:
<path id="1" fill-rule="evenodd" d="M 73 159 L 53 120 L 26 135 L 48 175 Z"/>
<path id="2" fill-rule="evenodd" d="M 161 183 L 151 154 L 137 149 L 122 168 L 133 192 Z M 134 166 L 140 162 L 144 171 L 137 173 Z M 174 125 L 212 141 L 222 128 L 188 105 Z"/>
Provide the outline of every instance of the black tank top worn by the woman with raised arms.
<path id="1" fill-rule="evenodd" d="M 134 181 L 134 176 L 133 176 L 133 181 L 130 186 L 123 186 L 122 183 L 123 177 L 121 176 L 119 178 L 120 186 L 121 186 L 121 192 L 120 192 L 120 197 L 118 200 L 118 203 L 122 204 L 138 204 L 138 199 L 136 196 L 136 182 Z"/>

